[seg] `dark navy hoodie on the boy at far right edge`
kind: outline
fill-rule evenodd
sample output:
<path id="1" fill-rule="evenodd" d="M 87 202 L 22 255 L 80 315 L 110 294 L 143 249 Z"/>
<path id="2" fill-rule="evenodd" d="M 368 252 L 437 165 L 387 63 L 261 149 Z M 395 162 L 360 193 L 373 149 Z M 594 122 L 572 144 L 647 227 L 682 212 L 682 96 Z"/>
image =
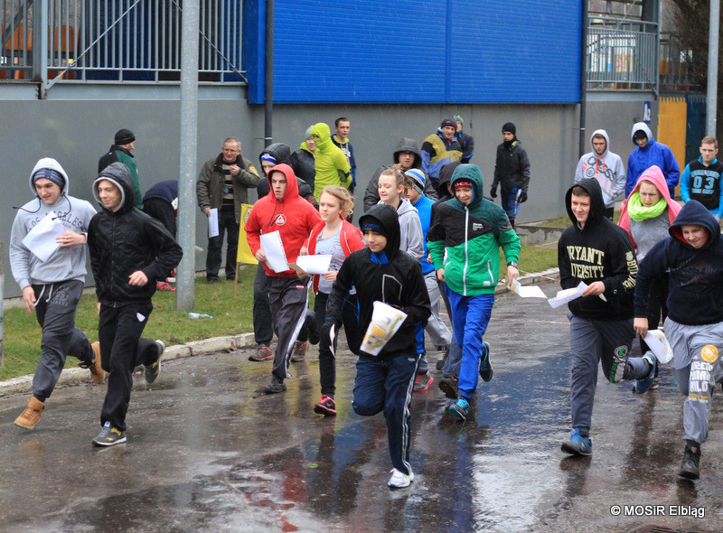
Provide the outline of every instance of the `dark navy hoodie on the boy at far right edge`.
<path id="1" fill-rule="evenodd" d="M 702 226 L 708 242 L 693 248 L 682 236 L 682 226 Z M 670 270 L 668 316 L 685 325 L 723 322 L 723 238 L 720 226 L 703 204 L 691 200 L 672 221 L 671 237 L 655 243 L 640 264 L 635 288 L 635 316 L 645 317 L 653 279 Z M 654 328 L 654 325 L 649 324 Z"/>

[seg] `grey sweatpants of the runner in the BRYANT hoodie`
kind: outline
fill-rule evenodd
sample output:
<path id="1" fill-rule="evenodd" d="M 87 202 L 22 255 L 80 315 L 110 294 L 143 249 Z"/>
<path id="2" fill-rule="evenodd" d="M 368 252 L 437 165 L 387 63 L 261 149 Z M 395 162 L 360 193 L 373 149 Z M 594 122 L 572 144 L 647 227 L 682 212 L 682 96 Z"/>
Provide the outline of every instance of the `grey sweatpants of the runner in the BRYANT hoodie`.
<path id="1" fill-rule="evenodd" d="M 643 379 L 650 372 L 650 366 L 642 357 L 628 358 L 635 336 L 633 319 L 606 322 L 580 318 L 572 313 L 568 313 L 568 318 L 572 352 L 572 427 L 580 428 L 580 433 L 587 435 L 593 416 L 598 363 L 602 363 L 606 379 L 611 383 L 619 383 L 621 379 Z"/>

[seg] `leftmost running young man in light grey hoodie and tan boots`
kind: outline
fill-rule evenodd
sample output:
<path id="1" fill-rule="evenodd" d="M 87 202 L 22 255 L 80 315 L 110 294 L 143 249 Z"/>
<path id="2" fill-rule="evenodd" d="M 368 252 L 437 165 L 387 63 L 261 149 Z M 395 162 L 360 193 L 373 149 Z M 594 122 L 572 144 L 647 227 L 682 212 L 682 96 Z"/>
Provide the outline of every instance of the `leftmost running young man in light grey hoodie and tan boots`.
<path id="1" fill-rule="evenodd" d="M 90 369 L 95 383 L 105 378 L 98 342 L 91 346 L 88 337 L 75 327 L 75 312 L 85 284 L 85 242 L 96 211 L 88 201 L 68 195 L 68 174 L 50 157 L 35 164 L 30 188 L 35 199 L 18 210 L 10 237 L 10 267 L 23 291 L 25 311 L 34 311 L 42 328 L 33 396 L 15 420 L 15 425 L 25 429 L 33 429 L 40 421 L 45 400 L 61 377 L 67 356 L 80 359 L 80 366 Z M 51 212 L 65 231 L 55 238 L 60 248 L 42 260 L 23 244 L 23 238 Z"/>

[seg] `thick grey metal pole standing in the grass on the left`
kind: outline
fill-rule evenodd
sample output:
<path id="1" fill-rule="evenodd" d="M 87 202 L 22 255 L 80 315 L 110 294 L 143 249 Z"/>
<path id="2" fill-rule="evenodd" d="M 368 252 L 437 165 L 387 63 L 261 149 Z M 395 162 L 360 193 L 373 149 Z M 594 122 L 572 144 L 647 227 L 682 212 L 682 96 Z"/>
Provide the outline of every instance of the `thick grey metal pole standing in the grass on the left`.
<path id="1" fill-rule="evenodd" d="M 175 308 L 191 311 L 196 274 L 196 140 L 198 130 L 199 0 L 184 0 L 181 22 L 181 161 L 178 173 L 178 244 Z"/>

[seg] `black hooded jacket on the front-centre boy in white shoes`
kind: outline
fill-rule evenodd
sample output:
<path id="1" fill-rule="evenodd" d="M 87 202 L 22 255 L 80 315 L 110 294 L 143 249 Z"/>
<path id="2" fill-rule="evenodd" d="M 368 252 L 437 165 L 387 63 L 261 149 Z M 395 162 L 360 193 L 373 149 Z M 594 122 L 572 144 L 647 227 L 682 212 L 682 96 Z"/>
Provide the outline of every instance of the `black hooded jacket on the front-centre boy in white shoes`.
<path id="1" fill-rule="evenodd" d="M 387 246 L 380 254 L 362 248 L 344 260 L 326 303 L 326 320 L 332 321 L 337 327 L 342 324 L 343 301 L 353 285 L 359 300 L 360 336 L 369 327 L 375 300 L 398 307 L 408 314 L 407 320 L 378 356 L 367 356 L 362 352 L 362 357 L 388 360 L 402 355 L 415 355 L 415 324 L 424 326 L 432 313 L 421 267 L 414 257 L 399 251 L 397 210 L 385 204 L 375 205 L 362 215 L 360 227 L 368 221 L 380 226 L 380 233 L 387 238 Z"/>

